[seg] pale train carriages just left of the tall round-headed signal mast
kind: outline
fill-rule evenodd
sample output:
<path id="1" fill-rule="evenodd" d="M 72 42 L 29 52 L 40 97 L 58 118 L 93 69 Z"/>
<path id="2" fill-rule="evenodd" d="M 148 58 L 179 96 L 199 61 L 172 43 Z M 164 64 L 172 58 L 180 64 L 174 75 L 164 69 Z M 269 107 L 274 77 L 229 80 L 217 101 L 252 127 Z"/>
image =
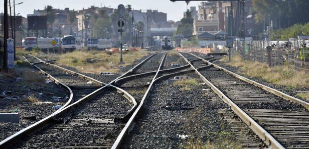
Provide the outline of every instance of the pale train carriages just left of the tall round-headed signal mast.
<path id="1" fill-rule="evenodd" d="M 112 47 L 112 40 L 111 39 L 101 39 L 101 38 L 89 38 L 87 45 L 88 45 L 88 50 L 109 49 Z"/>

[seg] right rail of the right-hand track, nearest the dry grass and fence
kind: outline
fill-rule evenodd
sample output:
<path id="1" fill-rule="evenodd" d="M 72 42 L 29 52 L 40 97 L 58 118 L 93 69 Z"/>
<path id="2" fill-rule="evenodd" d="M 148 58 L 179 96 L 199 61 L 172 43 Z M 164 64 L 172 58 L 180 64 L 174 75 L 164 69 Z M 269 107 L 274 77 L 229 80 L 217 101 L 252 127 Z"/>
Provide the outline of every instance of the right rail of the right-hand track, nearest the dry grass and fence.
<path id="1" fill-rule="evenodd" d="M 197 58 L 202 59 L 201 57 L 198 57 L 198 56 L 196 56 L 196 55 L 194 55 L 194 54 L 192 54 L 192 53 L 189 53 L 189 54 L 191 54 L 192 56 L 195 56 L 195 57 L 197 57 Z M 296 97 L 293 97 L 293 96 L 291 96 L 291 95 L 288 95 L 288 94 L 286 94 L 286 93 L 284 93 L 284 92 L 281 92 L 281 91 L 279 91 L 279 90 L 277 90 L 277 89 L 268 87 L 268 86 L 263 85 L 263 84 L 261 84 L 261 83 L 258 83 L 258 82 L 254 81 L 254 80 L 251 80 L 251 79 L 246 78 L 246 77 L 244 77 L 244 76 L 241 76 L 241 75 L 239 75 L 239 74 L 235 74 L 235 73 L 233 73 L 233 72 L 231 72 L 231 71 L 228 71 L 228 70 L 226 70 L 226 69 L 224 69 L 224 68 L 222 68 L 222 67 L 220 67 L 220 66 L 218 66 L 218 65 L 215 65 L 215 64 L 213 64 L 213 63 L 211 63 L 211 62 L 209 62 L 209 61 L 207 61 L 207 60 L 204 60 L 204 59 L 203 59 L 203 61 L 206 62 L 206 63 L 212 64 L 215 68 L 221 69 L 221 70 L 223 70 L 224 72 L 226 72 L 226 73 L 228 73 L 228 74 L 231 74 L 231 75 L 233 75 L 233 76 L 235 76 L 235 77 L 237 77 L 237 78 L 239 78 L 239 79 L 241 79 L 241 80 L 243 80 L 243 81 L 245 81 L 245 82 L 247 82 L 247 83 L 250 83 L 250 84 L 253 84 L 253 85 L 257 86 L 257 87 L 260 87 L 260 88 L 262 88 L 262 89 L 264 89 L 264 90 L 266 90 L 266 91 L 268 91 L 268 92 L 271 92 L 271 93 L 273 93 L 273 94 L 275 94 L 275 95 L 277 95 L 277 96 L 279 96 L 279 97 L 282 97 L 282 98 L 284 98 L 284 99 L 286 99 L 286 100 L 290 100 L 290 101 L 292 101 L 292 102 L 301 104 L 301 105 L 303 105 L 305 108 L 309 109 L 309 103 L 306 102 L 306 101 L 303 101 L 303 100 L 301 100 L 301 99 L 298 99 L 298 98 L 296 98 Z"/>

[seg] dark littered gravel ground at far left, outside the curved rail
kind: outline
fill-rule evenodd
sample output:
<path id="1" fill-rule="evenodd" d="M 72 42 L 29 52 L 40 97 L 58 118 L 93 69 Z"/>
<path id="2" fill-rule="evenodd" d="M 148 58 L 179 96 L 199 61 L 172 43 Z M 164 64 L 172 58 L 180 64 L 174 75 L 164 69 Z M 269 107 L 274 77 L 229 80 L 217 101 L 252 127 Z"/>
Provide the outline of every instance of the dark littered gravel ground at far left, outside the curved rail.
<path id="1" fill-rule="evenodd" d="M 0 74 L 0 93 L 11 91 L 6 92 L 4 98 L 0 97 L 0 112 L 17 112 L 20 117 L 18 124 L 0 122 L 0 140 L 52 114 L 57 110 L 52 109 L 54 105 L 65 104 L 67 92 L 52 82 L 46 84 L 46 80 L 45 75 L 38 74 L 30 65 L 17 66 L 9 75 Z M 26 100 L 30 95 L 38 101 Z M 29 116 L 35 116 L 35 119 L 21 118 Z"/>

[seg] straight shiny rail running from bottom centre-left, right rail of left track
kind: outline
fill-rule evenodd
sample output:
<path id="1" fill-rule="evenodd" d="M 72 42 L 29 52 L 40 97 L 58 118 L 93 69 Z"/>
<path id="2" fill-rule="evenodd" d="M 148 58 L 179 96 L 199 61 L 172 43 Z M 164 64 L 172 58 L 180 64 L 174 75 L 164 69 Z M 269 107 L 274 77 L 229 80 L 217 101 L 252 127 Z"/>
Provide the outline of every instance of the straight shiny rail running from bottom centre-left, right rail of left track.
<path id="1" fill-rule="evenodd" d="M 139 106 L 136 108 L 136 110 L 134 111 L 134 113 L 132 114 L 132 116 L 130 117 L 130 119 L 128 120 L 128 122 L 126 123 L 125 127 L 122 129 L 121 133 L 119 134 L 119 136 L 117 137 L 115 143 L 113 144 L 111 149 L 118 149 L 119 146 L 121 145 L 122 140 L 124 139 L 124 137 L 126 136 L 126 134 L 129 132 L 129 130 L 131 129 L 131 127 L 134 124 L 134 120 L 137 118 L 138 113 L 140 112 L 140 110 L 142 109 L 142 106 L 144 104 L 147 103 L 147 98 L 150 95 L 151 90 L 153 89 L 153 84 L 154 84 L 154 80 L 156 78 L 156 76 L 159 74 L 159 70 L 161 70 L 162 65 L 165 61 L 166 58 L 166 53 L 164 53 L 164 56 L 162 57 L 161 63 L 154 75 L 154 78 L 152 80 L 152 82 L 150 83 L 149 87 L 147 88 L 147 91 L 145 92 L 141 103 L 139 104 Z"/>

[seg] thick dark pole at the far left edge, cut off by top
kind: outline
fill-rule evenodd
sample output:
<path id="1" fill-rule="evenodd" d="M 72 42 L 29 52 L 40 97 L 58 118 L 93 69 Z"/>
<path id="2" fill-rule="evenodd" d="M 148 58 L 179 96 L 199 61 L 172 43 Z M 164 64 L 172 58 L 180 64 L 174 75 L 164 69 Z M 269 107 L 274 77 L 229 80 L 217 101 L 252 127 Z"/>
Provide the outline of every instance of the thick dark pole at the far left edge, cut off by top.
<path id="1" fill-rule="evenodd" d="M 8 38 L 8 23 L 7 23 L 7 0 L 4 0 L 4 50 L 3 50 L 3 70 L 7 73 L 7 38 Z"/>

